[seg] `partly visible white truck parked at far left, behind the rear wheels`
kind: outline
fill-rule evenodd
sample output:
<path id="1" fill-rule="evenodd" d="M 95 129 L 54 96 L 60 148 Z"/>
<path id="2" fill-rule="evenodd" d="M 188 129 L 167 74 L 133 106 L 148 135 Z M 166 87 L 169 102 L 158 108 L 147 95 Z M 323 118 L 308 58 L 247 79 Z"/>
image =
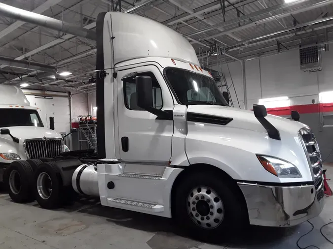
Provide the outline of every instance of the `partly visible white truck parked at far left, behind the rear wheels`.
<path id="1" fill-rule="evenodd" d="M 0 181 L 13 161 L 53 157 L 63 152 L 62 136 L 44 126 L 39 111 L 30 106 L 18 87 L 0 85 Z"/>

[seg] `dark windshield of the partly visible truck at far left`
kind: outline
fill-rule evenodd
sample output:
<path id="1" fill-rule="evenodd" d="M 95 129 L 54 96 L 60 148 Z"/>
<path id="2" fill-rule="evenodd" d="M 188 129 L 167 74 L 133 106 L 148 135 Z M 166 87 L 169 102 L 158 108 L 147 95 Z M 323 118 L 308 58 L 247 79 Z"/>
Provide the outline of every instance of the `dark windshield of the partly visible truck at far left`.
<path id="1" fill-rule="evenodd" d="M 44 127 L 37 110 L 0 108 L 0 127 L 38 126 Z"/>

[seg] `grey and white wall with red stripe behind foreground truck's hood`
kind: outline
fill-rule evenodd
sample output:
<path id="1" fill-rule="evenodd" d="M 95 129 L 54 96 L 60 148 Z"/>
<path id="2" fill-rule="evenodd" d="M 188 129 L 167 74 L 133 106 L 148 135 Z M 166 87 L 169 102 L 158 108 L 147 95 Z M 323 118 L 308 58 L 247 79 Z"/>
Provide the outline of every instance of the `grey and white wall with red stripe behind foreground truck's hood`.
<path id="1" fill-rule="evenodd" d="M 299 69 L 298 50 L 263 57 L 245 62 L 247 109 L 252 109 L 260 98 L 288 96 L 289 108 L 273 108 L 268 112 L 279 116 L 290 116 L 291 110 L 301 114 L 301 122 L 309 125 L 315 132 L 323 159 L 333 161 L 333 104 L 319 104 L 319 93 L 333 91 L 333 52 L 322 51 L 323 70 L 303 72 Z M 242 69 L 239 62 L 228 63 L 238 96 L 244 101 Z M 222 72 L 231 84 L 226 65 Z M 232 97 L 233 98 L 233 97 Z M 233 98 L 234 100 L 234 98 Z M 332 96 L 333 102 L 333 96 Z M 333 154 L 333 153 L 332 153 Z M 330 156 L 329 156 L 330 155 Z"/>

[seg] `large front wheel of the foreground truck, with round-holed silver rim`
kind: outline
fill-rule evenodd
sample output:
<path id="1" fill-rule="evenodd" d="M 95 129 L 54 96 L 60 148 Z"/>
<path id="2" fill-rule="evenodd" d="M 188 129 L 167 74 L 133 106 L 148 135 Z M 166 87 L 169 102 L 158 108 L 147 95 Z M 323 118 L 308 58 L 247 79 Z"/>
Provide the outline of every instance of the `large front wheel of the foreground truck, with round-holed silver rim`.
<path id="1" fill-rule="evenodd" d="M 191 174 L 177 186 L 173 217 L 190 236 L 221 242 L 248 221 L 246 205 L 236 187 L 214 174 Z"/>

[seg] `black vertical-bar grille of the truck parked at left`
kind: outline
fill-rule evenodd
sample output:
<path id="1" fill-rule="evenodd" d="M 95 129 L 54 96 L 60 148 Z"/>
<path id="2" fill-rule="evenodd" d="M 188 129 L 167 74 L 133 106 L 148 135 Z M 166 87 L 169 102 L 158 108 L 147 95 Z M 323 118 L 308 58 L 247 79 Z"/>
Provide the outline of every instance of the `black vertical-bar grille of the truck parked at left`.
<path id="1" fill-rule="evenodd" d="M 63 151 L 63 142 L 61 139 L 42 139 L 26 140 L 25 149 L 30 159 L 40 157 L 59 156 Z"/>

